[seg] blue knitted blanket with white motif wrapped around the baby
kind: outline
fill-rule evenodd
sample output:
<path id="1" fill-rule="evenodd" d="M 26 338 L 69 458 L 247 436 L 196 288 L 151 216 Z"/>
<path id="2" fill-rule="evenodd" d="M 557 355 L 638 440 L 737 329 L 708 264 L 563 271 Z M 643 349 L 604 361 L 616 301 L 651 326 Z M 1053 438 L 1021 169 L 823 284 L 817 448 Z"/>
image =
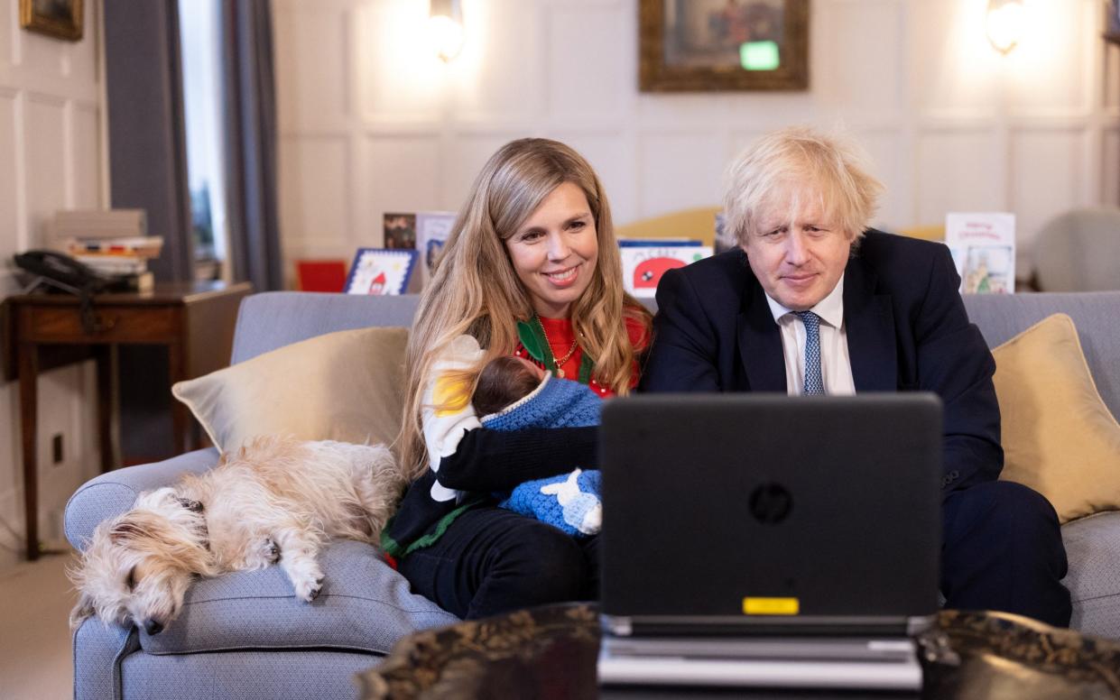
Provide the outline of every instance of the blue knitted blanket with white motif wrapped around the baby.
<path id="1" fill-rule="evenodd" d="M 603 401 L 585 384 L 549 375 L 524 399 L 484 417 L 484 428 L 578 428 L 598 426 Z M 576 538 L 597 534 L 603 523 L 598 469 L 575 469 L 515 487 L 498 505 L 554 525 Z"/>

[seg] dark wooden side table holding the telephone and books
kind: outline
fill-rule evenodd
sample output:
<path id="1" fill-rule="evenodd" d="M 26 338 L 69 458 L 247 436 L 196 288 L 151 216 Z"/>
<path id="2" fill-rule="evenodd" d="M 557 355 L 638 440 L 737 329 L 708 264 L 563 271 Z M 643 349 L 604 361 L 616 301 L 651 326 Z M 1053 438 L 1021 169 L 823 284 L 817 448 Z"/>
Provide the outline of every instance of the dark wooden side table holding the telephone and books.
<path id="1" fill-rule="evenodd" d="M 73 295 L 8 297 L 11 351 L 18 366 L 19 408 L 24 445 L 24 508 L 27 558 L 39 557 L 36 376 L 43 346 L 92 348 L 97 366 L 97 426 L 101 468 L 120 465 L 118 430 L 116 347 L 164 345 L 168 352 L 168 386 L 220 370 L 230 362 L 233 328 L 249 282 L 174 282 L 146 292 L 97 295 L 92 319 L 83 325 L 78 298 Z M 92 323 L 90 323 L 92 321 Z M 189 414 L 181 403 L 171 407 L 176 451 L 192 448 Z"/>

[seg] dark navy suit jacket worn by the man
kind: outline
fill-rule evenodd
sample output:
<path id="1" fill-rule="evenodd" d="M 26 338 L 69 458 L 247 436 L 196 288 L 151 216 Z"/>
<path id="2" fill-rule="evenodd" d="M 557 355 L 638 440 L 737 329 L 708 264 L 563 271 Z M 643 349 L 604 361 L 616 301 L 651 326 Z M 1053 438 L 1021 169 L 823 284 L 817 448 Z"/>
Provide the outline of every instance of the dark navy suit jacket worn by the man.
<path id="1" fill-rule="evenodd" d="M 996 371 L 940 243 L 869 230 L 844 271 L 857 392 L 932 391 L 944 403 L 943 493 L 1004 467 Z M 785 392 L 782 336 L 740 250 L 671 270 L 657 286 L 642 391 Z"/>

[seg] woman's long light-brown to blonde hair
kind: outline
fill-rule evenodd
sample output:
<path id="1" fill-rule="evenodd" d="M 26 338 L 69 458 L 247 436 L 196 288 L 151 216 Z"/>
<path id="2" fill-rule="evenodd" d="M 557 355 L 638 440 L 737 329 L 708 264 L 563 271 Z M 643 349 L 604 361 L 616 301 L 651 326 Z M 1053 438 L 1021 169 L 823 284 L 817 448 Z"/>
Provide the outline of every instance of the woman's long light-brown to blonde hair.
<path id="1" fill-rule="evenodd" d="M 428 466 L 420 419 L 435 358 L 457 336 L 470 334 L 486 349 L 473 368 L 477 375 L 483 364 L 516 347 L 517 321 L 531 318 L 533 306 L 514 272 L 505 240 L 563 183 L 584 190 L 599 246 L 591 282 L 571 305 L 572 329 L 584 352 L 595 360 L 596 381 L 619 395 L 628 393 L 636 351 L 625 319 L 637 320 L 648 335 L 650 312 L 623 288 L 610 206 L 599 178 L 579 153 L 559 141 L 511 141 L 478 174 L 417 308 L 396 442 L 401 465 L 411 478 Z"/>

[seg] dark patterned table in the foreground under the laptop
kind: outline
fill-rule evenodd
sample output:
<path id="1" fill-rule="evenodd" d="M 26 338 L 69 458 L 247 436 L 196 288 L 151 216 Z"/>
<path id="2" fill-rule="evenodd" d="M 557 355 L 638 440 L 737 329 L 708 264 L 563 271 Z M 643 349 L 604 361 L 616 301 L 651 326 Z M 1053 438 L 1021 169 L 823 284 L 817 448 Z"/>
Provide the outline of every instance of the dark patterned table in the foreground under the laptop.
<path id="1" fill-rule="evenodd" d="M 358 675 L 364 700 L 392 698 L 1120 698 L 1120 643 L 999 613 L 943 610 L 918 637 L 921 693 L 610 688 L 596 681 L 589 604 L 547 606 L 419 632 Z"/>

